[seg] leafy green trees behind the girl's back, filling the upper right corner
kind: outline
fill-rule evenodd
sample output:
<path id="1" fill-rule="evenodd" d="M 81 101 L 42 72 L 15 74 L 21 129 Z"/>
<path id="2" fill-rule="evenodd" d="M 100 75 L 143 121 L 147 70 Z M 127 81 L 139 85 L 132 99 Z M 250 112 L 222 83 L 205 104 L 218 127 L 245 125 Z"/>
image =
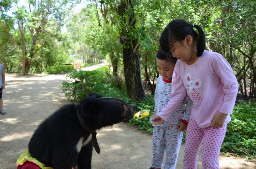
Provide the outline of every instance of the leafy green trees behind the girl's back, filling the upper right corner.
<path id="1" fill-rule="evenodd" d="M 198 2 L 199 3 L 199 2 Z M 198 4 L 195 3 L 195 4 Z M 211 0 L 194 5 L 206 15 L 198 15 L 205 29 L 209 50 L 221 53 L 231 64 L 240 84 L 240 92 L 256 96 L 256 2 L 252 0 Z"/>

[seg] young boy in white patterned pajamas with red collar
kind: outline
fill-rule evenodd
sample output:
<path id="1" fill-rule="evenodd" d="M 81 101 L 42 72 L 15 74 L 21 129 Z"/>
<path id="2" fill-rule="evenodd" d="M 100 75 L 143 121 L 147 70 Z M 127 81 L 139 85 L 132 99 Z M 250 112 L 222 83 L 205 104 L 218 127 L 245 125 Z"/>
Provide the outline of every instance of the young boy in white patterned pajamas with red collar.
<path id="1" fill-rule="evenodd" d="M 168 103 L 172 91 L 172 73 L 177 58 L 172 53 L 158 50 L 157 67 L 161 76 L 157 78 L 155 90 L 155 110 L 151 116 L 153 119 Z M 187 104 L 186 111 L 185 103 Z M 166 163 L 164 169 L 175 169 L 177 157 L 181 147 L 183 131 L 187 128 L 189 120 L 191 100 L 186 96 L 173 115 L 161 125 L 154 125 L 152 138 L 152 167 L 149 169 L 160 169 L 163 166 L 163 156 L 166 152 Z"/>

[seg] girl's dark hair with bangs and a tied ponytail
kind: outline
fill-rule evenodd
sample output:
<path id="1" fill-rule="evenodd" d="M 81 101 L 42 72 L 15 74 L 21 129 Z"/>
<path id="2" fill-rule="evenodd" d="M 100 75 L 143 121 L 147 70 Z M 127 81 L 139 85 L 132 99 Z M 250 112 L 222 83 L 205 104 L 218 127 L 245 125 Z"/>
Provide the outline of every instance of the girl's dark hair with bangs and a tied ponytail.
<path id="1" fill-rule="evenodd" d="M 196 28 L 198 33 L 193 28 Z M 197 56 L 201 56 L 205 48 L 204 32 L 200 26 L 194 25 L 193 27 L 183 19 L 175 19 L 166 26 L 161 34 L 159 46 L 164 52 L 168 52 L 173 47 L 174 42 L 183 41 L 187 35 L 194 38 Z"/>

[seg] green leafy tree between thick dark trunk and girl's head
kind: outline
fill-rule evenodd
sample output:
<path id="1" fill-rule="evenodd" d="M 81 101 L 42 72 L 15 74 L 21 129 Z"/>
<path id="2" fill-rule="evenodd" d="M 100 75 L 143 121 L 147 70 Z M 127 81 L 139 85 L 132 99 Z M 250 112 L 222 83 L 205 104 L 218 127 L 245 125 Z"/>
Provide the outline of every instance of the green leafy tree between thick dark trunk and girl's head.
<path id="1" fill-rule="evenodd" d="M 156 65 L 158 42 L 163 28 L 172 19 L 171 4 L 171 1 L 144 0 L 137 7 L 137 15 L 140 18 L 137 23 L 141 25 L 139 42 L 144 71 L 143 80 L 150 86 L 153 95 L 156 87 L 155 81 L 159 76 Z"/>

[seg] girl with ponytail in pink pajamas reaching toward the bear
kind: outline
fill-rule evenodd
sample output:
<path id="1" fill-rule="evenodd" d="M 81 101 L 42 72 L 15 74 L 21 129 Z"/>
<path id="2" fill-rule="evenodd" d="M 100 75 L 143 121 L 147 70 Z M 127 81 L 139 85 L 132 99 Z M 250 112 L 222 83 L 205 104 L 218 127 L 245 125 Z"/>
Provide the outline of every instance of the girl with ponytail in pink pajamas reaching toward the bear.
<path id="1" fill-rule="evenodd" d="M 159 44 L 163 51 L 171 51 L 179 60 L 172 76 L 170 101 L 152 124 L 159 125 L 168 120 L 187 92 L 193 103 L 183 168 L 197 168 L 203 143 L 203 168 L 218 169 L 219 152 L 238 92 L 236 76 L 221 54 L 204 50 L 204 32 L 198 25 L 188 24 L 183 19 L 173 20 L 163 30 Z"/>

